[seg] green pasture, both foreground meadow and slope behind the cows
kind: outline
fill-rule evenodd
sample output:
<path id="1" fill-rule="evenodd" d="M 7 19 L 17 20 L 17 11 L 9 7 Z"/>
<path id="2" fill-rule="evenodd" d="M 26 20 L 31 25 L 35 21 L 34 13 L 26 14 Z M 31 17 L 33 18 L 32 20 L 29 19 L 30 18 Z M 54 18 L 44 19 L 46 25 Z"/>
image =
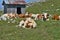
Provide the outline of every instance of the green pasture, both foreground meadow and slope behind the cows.
<path id="1" fill-rule="evenodd" d="M 36 3 L 26 10 L 32 13 L 48 12 L 49 14 L 60 14 L 60 10 L 56 11 L 56 9 L 60 9 L 59 0 L 53 0 L 52 2 L 51 1 Z M 51 7 L 52 3 L 55 4 L 55 6 Z M 0 15 L 1 13 L 2 12 L 0 12 Z M 37 20 L 36 29 L 24 29 L 16 27 L 19 20 L 17 19 L 16 23 L 7 23 L 6 21 L 0 21 L 0 40 L 60 40 L 60 21 Z"/>

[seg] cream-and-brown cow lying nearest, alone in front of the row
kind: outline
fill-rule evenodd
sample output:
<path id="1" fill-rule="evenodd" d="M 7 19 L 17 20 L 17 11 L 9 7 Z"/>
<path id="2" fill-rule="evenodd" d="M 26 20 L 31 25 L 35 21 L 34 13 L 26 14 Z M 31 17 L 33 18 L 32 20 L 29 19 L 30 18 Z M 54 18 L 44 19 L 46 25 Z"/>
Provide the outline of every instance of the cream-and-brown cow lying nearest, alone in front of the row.
<path id="1" fill-rule="evenodd" d="M 37 24 L 33 19 L 26 18 L 25 20 L 20 21 L 18 26 L 22 28 L 35 28 L 36 25 Z"/>

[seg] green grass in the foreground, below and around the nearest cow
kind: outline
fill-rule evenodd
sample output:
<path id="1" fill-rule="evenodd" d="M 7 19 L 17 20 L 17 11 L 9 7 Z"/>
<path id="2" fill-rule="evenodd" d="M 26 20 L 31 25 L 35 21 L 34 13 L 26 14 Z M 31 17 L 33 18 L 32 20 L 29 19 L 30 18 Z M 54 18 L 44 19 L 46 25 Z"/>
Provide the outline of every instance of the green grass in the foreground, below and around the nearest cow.
<path id="1" fill-rule="evenodd" d="M 0 40 L 60 40 L 60 21 L 36 22 L 36 29 L 23 29 L 1 21 Z"/>

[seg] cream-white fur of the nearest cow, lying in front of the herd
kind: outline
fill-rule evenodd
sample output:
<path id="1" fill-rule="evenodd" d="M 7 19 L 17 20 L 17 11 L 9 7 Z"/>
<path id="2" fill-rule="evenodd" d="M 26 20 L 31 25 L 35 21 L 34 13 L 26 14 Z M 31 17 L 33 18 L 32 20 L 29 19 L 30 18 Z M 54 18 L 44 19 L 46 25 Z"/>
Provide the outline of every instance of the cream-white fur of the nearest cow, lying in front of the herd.
<path id="1" fill-rule="evenodd" d="M 23 27 L 23 28 L 26 28 L 26 24 L 28 23 L 28 21 L 31 22 L 28 25 L 32 25 L 33 28 L 36 27 L 36 25 L 37 25 L 36 22 L 31 18 L 26 18 L 26 21 L 24 21 L 24 20 L 20 21 L 19 26 Z M 24 25 L 22 25 L 22 24 L 24 24 Z"/>

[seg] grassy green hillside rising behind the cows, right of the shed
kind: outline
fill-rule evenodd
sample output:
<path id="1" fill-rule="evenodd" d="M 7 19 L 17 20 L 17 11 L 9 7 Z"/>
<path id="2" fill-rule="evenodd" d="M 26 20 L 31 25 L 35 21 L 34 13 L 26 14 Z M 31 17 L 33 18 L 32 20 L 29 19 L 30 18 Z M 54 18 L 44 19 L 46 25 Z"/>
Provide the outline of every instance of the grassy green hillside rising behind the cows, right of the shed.
<path id="1" fill-rule="evenodd" d="M 34 5 L 28 7 L 26 9 L 28 12 L 32 13 L 42 13 L 48 12 L 52 13 L 60 13 L 60 0 L 49 0 L 47 2 L 38 2 L 34 3 Z"/>

